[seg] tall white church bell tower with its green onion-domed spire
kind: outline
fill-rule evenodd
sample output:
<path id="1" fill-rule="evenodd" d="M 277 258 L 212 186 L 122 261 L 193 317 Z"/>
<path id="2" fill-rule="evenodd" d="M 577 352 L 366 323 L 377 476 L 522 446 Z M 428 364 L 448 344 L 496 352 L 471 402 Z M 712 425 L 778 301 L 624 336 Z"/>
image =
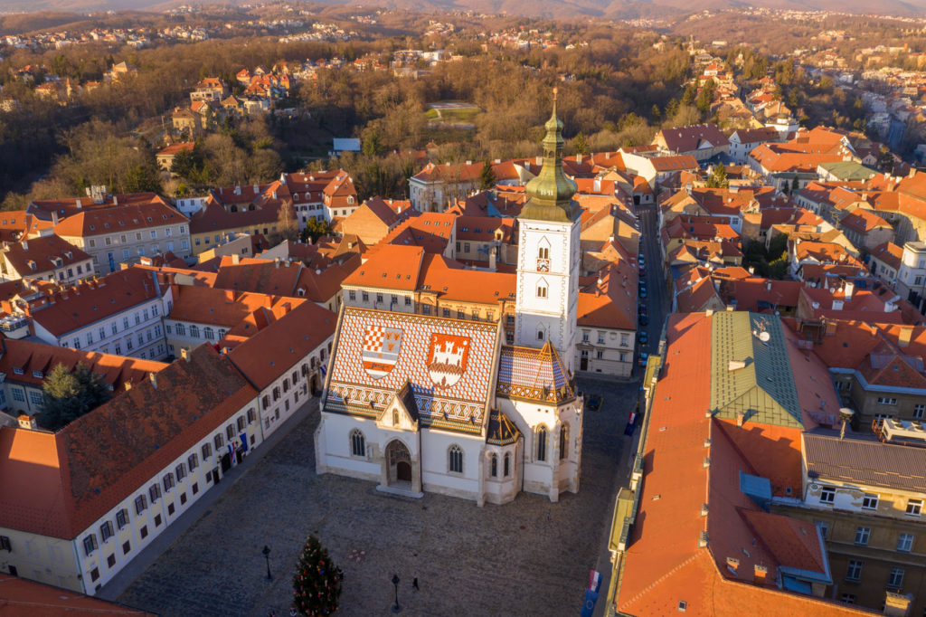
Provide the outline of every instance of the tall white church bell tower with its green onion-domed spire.
<path id="1" fill-rule="evenodd" d="M 518 298 L 515 343 L 556 347 L 571 373 L 579 303 L 579 204 L 576 183 L 563 171 L 563 123 L 553 113 L 544 125 L 544 166 L 527 183 L 530 199 L 518 217 Z"/>

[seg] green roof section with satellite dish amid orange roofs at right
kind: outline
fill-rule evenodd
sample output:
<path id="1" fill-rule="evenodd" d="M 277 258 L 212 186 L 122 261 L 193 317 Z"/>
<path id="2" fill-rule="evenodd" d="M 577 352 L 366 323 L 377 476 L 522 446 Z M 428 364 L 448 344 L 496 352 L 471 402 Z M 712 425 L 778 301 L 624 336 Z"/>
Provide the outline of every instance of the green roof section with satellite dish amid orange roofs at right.
<path id="1" fill-rule="evenodd" d="M 723 311 L 711 318 L 710 409 L 744 422 L 803 428 L 782 324 L 773 315 Z"/>

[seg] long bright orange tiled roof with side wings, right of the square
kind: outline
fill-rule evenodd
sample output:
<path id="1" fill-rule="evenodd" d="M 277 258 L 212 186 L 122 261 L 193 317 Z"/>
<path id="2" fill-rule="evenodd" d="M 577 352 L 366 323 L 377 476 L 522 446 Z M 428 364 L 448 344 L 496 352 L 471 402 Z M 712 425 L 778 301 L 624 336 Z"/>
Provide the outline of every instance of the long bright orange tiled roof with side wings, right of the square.
<path id="1" fill-rule="evenodd" d="M 758 606 L 764 615 L 788 617 L 863 614 L 775 585 L 771 573 L 779 566 L 821 572 L 819 535 L 813 523 L 760 510 L 741 490 L 739 472 L 787 467 L 789 474 L 779 472 L 773 482 L 799 486 L 799 432 L 756 424 L 744 432 L 706 417 L 711 320 L 704 314 L 669 316 L 667 340 L 644 444 L 639 510 L 615 598 L 618 611 L 674 614 L 683 601 L 685 613 L 695 615 L 754 614 Z M 709 510 L 702 516 L 705 503 Z M 699 548 L 703 532 L 707 546 Z M 817 538 L 816 548 L 811 538 Z M 736 573 L 728 558 L 738 560 Z M 753 582 L 756 565 L 768 568 L 764 584 Z"/>

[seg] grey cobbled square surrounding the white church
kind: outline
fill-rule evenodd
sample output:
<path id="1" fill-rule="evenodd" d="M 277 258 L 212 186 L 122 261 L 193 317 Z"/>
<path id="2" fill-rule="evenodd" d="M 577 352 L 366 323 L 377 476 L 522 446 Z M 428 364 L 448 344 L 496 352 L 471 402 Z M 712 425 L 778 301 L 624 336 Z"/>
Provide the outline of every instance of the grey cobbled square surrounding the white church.
<path id="1" fill-rule="evenodd" d="M 623 433 L 638 384 L 580 380 L 579 387 L 605 398 L 599 411 L 585 414 L 580 492 L 558 503 L 521 494 L 484 508 L 428 493 L 389 496 L 373 483 L 316 475 L 312 399 L 307 420 L 228 486 L 118 599 L 161 615 L 282 617 L 301 548 L 315 534 L 344 570 L 338 614 L 389 614 L 393 573 L 401 579 L 403 614 L 578 614 L 589 569 L 607 571 L 602 549 L 627 471 L 631 438 Z"/>

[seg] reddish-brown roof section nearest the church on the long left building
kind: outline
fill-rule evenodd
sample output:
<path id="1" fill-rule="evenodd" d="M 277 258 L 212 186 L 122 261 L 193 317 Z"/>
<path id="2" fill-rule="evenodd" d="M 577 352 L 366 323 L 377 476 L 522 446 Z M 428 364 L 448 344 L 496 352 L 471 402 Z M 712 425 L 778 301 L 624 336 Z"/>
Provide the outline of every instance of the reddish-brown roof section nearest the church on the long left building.
<path id="1" fill-rule="evenodd" d="M 337 321 L 336 313 L 305 302 L 236 346 L 228 357 L 263 390 L 332 336 Z"/>

